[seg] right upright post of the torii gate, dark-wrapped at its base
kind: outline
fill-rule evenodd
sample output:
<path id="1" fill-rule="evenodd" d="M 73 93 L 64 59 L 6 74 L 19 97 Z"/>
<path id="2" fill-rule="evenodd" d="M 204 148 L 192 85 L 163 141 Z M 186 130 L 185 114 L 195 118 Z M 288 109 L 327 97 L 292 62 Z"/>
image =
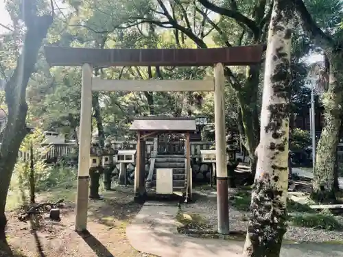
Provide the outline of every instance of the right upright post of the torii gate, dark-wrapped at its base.
<path id="1" fill-rule="evenodd" d="M 226 135 L 224 116 L 224 67 L 214 66 L 215 77 L 215 155 L 217 173 L 217 215 L 218 232 L 228 234 L 228 172 L 226 168 Z"/>

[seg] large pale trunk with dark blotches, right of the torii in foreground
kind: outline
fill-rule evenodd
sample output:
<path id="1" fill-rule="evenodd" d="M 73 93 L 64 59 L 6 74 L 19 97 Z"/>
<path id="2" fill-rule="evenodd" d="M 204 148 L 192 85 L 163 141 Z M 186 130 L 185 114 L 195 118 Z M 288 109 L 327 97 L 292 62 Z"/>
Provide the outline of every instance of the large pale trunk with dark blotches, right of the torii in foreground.
<path id="1" fill-rule="evenodd" d="M 260 143 L 244 256 L 280 254 L 287 220 L 290 52 L 294 5 L 274 0 L 265 57 Z"/>

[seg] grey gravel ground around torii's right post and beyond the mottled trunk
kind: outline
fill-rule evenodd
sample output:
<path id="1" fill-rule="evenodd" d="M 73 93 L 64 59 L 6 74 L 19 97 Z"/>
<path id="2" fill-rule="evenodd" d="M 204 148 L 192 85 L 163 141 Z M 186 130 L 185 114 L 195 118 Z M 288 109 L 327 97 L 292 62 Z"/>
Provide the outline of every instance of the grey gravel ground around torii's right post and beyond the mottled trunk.
<path id="1" fill-rule="evenodd" d="M 182 206 L 182 211 L 198 213 L 206 219 L 213 230 L 217 229 L 217 200 L 216 195 L 211 190 L 194 191 L 196 193 L 196 201 L 192 204 Z M 235 191 L 229 191 L 229 196 Z M 229 209 L 230 230 L 246 231 L 248 222 L 246 221 L 246 212 Z M 343 224 L 343 217 L 337 217 Z M 287 232 L 283 237 L 287 241 L 296 242 L 325 242 L 337 241 L 343 243 L 343 231 L 328 231 L 314 228 L 300 228 L 289 225 Z"/>

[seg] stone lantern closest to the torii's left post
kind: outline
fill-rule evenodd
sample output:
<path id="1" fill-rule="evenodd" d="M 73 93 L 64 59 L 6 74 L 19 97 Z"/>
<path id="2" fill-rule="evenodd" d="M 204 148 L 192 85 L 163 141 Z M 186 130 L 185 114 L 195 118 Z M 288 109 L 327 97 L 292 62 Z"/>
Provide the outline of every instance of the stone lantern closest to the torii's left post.
<path id="1" fill-rule="evenodd" d="M 103 172 L 102 162 L 102 149 L 99 147 L 98 140 L 92 140 L 91 143 L 91 154 L 89 156 L 90 168 L 89 176 L 91 178 L 91 185 L 89 186 L 89 198 L 101 199 L 99 195 L 99 179 Z"/>

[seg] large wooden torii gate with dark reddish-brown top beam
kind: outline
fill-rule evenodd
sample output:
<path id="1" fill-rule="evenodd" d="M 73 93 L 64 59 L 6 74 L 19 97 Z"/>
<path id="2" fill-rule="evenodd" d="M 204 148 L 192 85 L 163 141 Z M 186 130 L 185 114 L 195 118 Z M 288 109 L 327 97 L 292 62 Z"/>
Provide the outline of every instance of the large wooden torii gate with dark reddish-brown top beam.
<path id="1" fill-rule="evenodd" d="M 224 117 L 224 66 L 261 62 L 263 45 L 211 49 L 84 49 L 45 47 L 50 66 L 82 66 L 78 193 L 75 230 L 86 232 L 91 146 L 92 91 L 214 91 L 218 232 L 228 234 L 228 173 Z M 94 67 L 210 66 L 209 80 L 110 80 L 93 77 Z M 136 180 L 136 179 L 135 179 Z M 137 183 L 136 183 L 137 182 Z M 135 181 L 135 193 L 141 182 Z"/>

